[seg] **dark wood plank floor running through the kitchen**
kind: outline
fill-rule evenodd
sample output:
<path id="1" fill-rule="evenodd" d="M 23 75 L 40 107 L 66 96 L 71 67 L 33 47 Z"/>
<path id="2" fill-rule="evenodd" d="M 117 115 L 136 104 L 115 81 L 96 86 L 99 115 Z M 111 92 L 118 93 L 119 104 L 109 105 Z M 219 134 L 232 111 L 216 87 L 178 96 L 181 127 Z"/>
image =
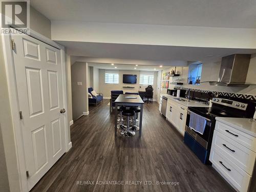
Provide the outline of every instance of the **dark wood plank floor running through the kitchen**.
<path id="1" fill-rule="evenodd" d="M 120 134 L 115 138 L 114 113 L 110 114 L 108 102 L 90 106 L 90 115 L 74 122 L 71 150 L 31 191 L 233 191 L 189 150 L 182 136 L 160 115 L 157 103 L 144 104 L 141 138 L 138 133 L 133 138 Z M 79 181 L 91 184 L 77 184 Z M 124 184 L 100 185 L 96 181 Z M 126 181 L 142 183 L 129 185 Z M 157 185 L 157 181 L 179 184 Z"/>

